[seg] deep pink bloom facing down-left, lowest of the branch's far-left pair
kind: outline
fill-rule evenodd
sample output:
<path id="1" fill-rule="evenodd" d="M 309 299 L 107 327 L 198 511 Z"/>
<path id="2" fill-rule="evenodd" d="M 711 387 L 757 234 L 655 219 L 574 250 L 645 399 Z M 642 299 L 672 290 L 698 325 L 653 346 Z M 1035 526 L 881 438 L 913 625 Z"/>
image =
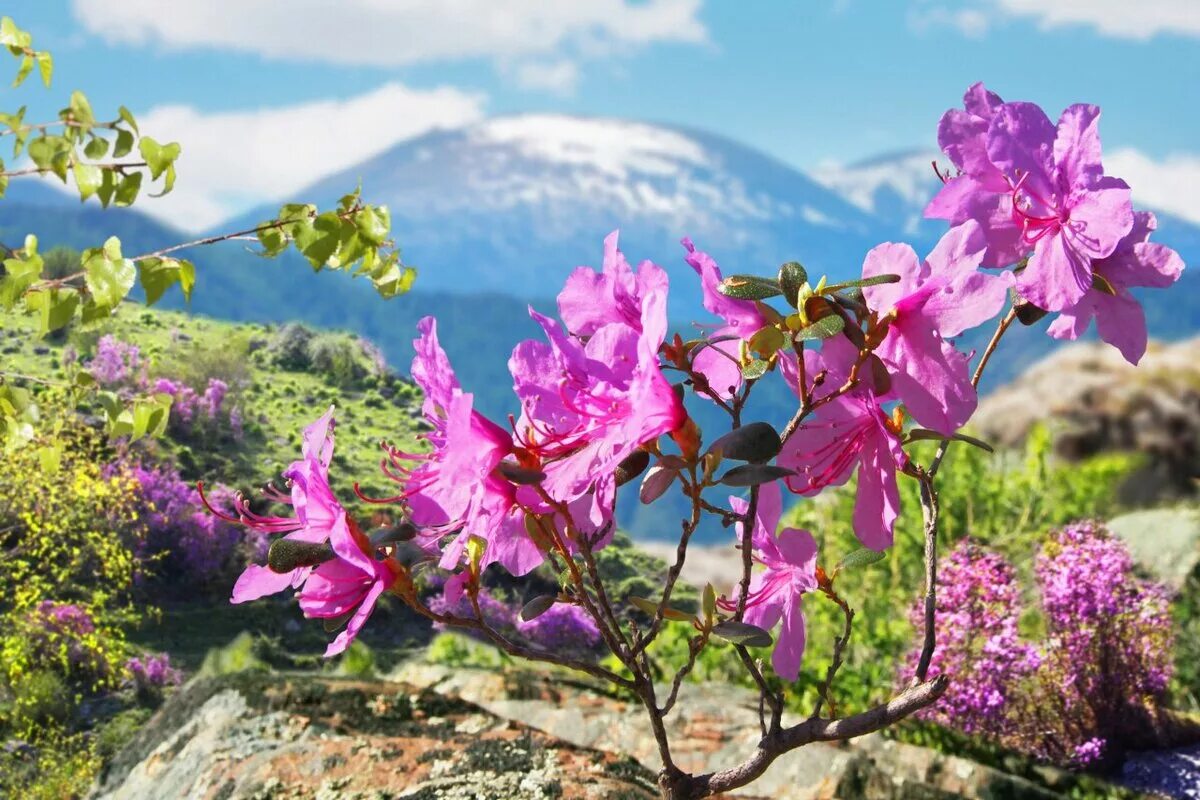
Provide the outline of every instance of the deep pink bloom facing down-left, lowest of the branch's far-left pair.
<path id="1" fill-rule="evenodd" d="M 350 645 L 374 610 L 379 596 L 400 575 L 391 558 L 377 558 L 376 551 L 353 519 L 343 515 L 330 531 L 335 558 L 313 567 L 300 589 L 300 610 L 305 616 L 337 619 L 350 615 L 346 628 L 325 649 L 336 656 Z"/>

